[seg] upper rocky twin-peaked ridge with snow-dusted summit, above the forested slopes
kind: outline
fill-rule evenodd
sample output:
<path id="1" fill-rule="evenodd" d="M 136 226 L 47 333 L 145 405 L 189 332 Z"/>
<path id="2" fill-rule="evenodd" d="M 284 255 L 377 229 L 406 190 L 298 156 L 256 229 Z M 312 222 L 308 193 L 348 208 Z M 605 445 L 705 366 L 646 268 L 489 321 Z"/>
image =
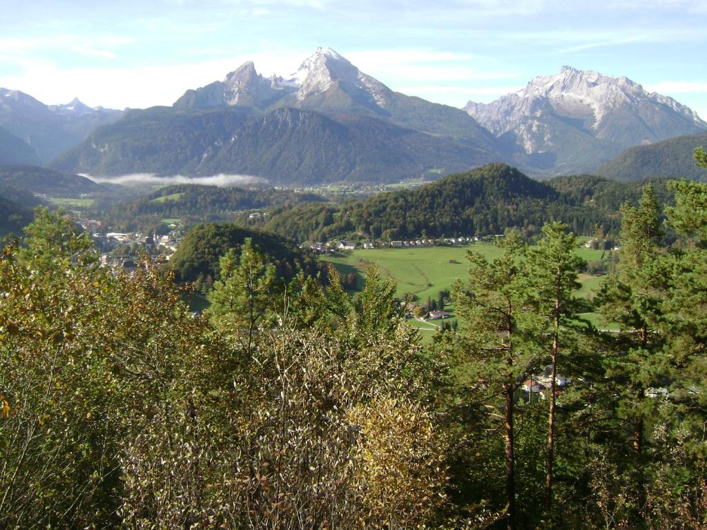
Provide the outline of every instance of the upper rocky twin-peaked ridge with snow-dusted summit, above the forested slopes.
<path id="1" fill-rule="evenodd" d="M 266 78 L 247 61 L 223 81 L 190 89 L 173 103 L 179 110 L 243 105 L 260 111 L 278 107 L 324 114 L 364 114 L 428 134 L 493 151 L 496 139 L 456 107 L 394 92 L 330 48 L 319 47 L 287 77 Z"/>

